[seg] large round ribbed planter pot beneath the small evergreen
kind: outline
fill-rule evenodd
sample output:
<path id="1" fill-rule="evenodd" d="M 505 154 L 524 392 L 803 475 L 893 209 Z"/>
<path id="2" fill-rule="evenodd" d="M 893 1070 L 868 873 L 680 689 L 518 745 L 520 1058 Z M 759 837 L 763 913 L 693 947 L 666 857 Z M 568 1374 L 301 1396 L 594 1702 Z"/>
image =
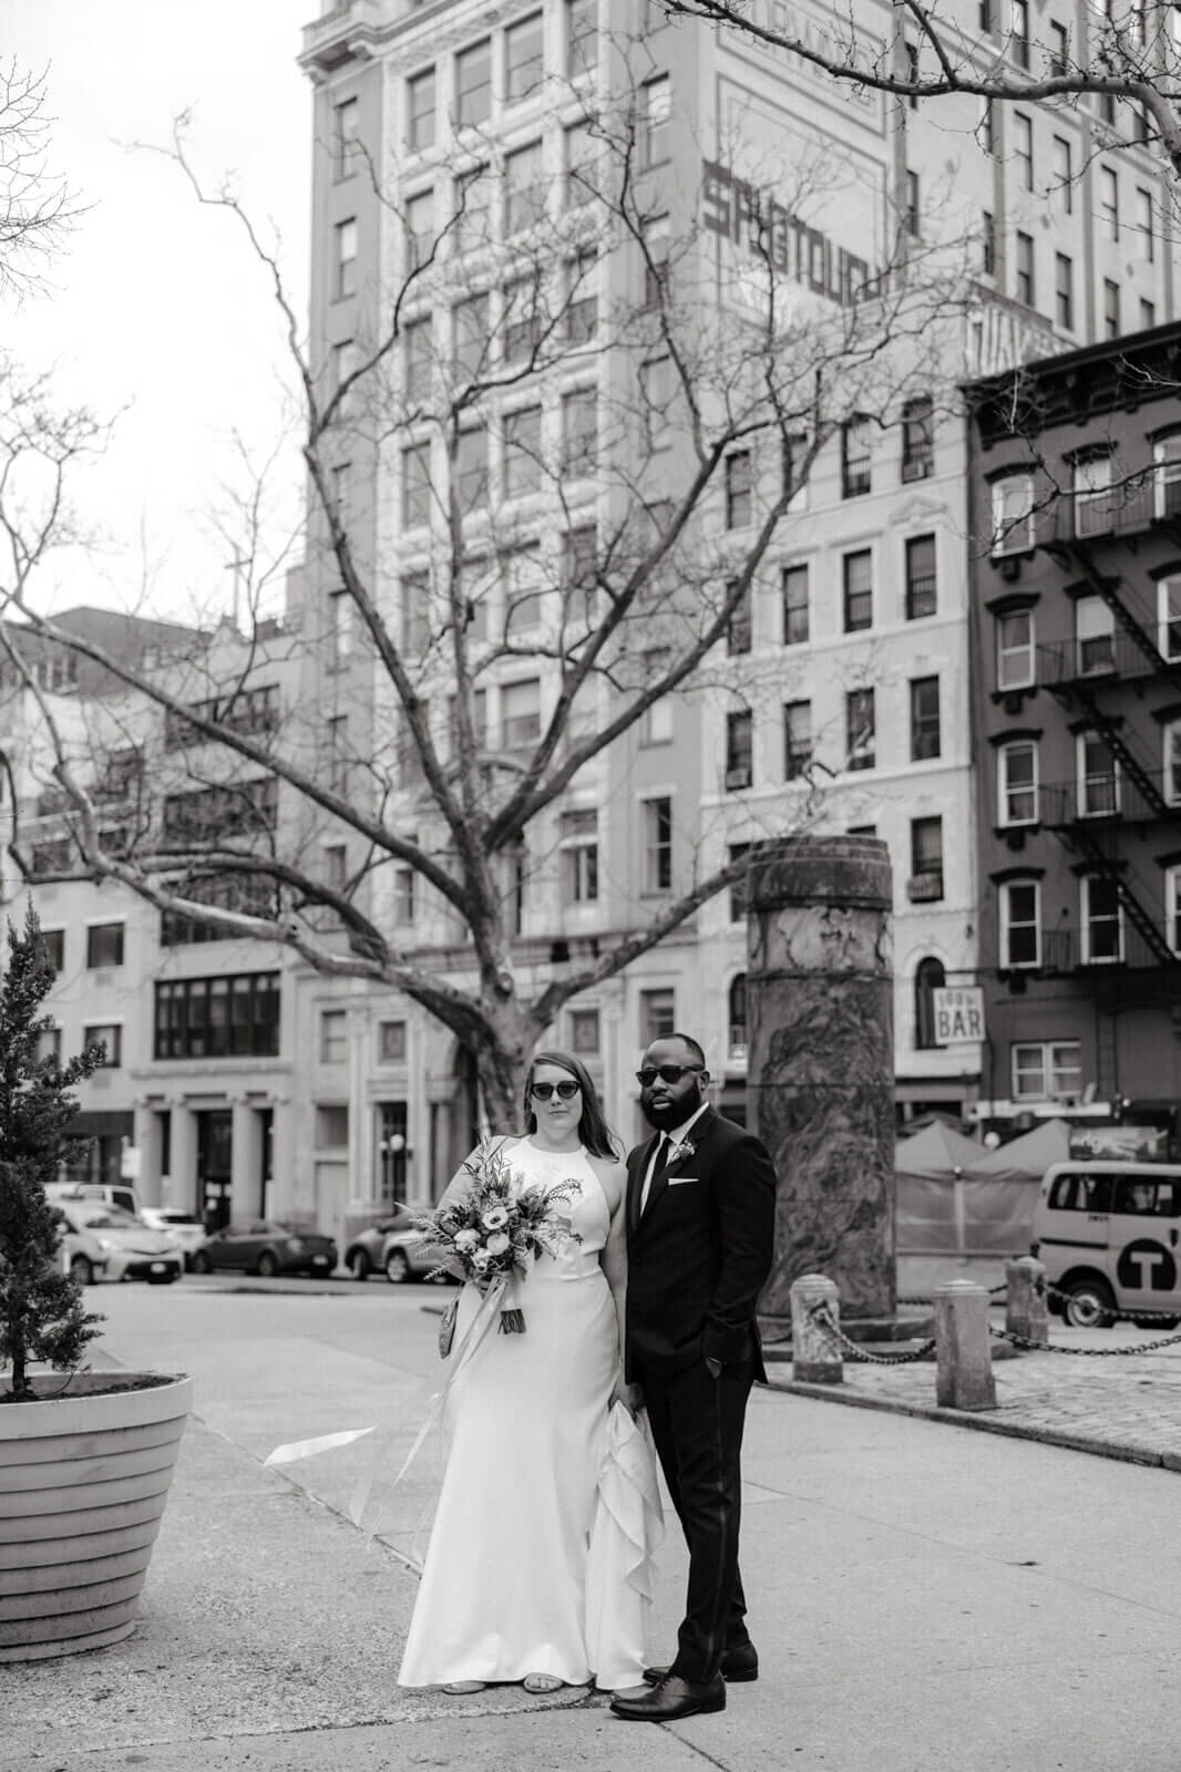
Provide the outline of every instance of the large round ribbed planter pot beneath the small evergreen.
<path id="1" fill-rule="evenodd" d="M 103 1386 L 129 1387 L 101 1395 Z M 60 1377 L 37 1387 L 50 1398 Z M 160 1531 L 193 1380 L 89 1372 L 0 1403 L 0 1662 L 119 1643 Z"/>

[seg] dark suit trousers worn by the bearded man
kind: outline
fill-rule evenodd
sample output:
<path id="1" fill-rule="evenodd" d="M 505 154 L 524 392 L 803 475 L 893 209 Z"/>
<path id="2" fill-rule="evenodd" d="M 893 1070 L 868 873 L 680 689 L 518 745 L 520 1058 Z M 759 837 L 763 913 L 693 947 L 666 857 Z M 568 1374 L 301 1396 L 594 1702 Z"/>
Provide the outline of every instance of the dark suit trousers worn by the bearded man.
<path id="1" fill-rule="evenodd" d="M 725 1650 L 750 1641 L 738 1529 L 739 1455 L 754 1363 L 727 1364 L 716 1379 L 704 1359 L 670 1373 L 640 1368 L 637 1377 L 690 1554 L 672 1673 L 706 1682 L 718 1673 Z"/>

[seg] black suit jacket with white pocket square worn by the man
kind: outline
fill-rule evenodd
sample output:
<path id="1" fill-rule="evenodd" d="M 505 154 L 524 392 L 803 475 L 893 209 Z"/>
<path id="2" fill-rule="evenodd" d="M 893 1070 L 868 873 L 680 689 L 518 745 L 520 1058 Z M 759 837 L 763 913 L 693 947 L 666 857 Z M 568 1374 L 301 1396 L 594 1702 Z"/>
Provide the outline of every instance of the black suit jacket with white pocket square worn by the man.
<path id="1" fill-rule="evenodd" d="M 695 1359 L 754 1359 L 766 1380 L 755 1299 L 775 1251 L 775 1168 L 745 1127 L 713 1108 L 690 1127 L 692 1157 L 640 1191 L 656 1134 L 628 1155 L 628 1377 Z"/>

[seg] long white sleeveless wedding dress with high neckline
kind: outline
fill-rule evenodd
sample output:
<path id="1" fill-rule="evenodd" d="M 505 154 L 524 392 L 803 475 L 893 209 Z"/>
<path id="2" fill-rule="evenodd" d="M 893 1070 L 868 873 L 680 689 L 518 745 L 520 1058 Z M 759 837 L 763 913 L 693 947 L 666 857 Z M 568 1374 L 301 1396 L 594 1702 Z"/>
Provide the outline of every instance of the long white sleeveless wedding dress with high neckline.
<path id="1" fill-rule="evenodd" d="M 612 1487 L 626 1464 L 614 1457 L 621 1416 L 645 1481 L 647 1448 L 621 1409 L 608 1434 L 619 1329 L 599 1265 L 606 1196 L 582 1148 L 548 1152 L 520 1139 L 507 1159 L 518 1185 L 578 1184 L 559 1212 L 582 1242 L 541 1256 L 505 1299 L 525 1313 L 525 1334 L 493 1324 L 452 1382 L 450 1455 L 397 1678 L 418 1687 L 544 1673 L 567 1685 L 635 1683 L 651 1581 L 644 1550 L 633 1549 L 644 1536 L 635 1510 L 619 1531 L 628 1512 Z M 465 1286 L 450 1361 L 479 1304 Z M 610 1483 L 601 1481 L 608 1465 Z M 654 1474 L 651 1496 L 658 1508 Z"/>

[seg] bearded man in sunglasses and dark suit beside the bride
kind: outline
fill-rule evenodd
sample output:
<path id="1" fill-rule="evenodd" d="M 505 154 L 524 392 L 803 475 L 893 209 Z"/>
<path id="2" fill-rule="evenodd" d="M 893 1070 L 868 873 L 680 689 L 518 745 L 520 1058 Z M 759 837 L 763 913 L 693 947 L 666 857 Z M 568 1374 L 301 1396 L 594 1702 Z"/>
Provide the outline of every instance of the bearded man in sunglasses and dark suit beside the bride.
<path id="1" fill-rule="evenodd" d="M 697 1040 L 654 1040 L 640 1106 L 656 1136 L 628 1157 L 626 1377 L 638 1386 L 690 1552 L 684 1620 L 651 1690 L 617 1717 L 669 1722 L 725 1708 L 727 1680 L 757 1680 L 738 1574 L 747 1398 L 766 1382 L 755 1299 L 775 1246 L 775 1170 L 764 1146 L 706 1100 Z"/>

